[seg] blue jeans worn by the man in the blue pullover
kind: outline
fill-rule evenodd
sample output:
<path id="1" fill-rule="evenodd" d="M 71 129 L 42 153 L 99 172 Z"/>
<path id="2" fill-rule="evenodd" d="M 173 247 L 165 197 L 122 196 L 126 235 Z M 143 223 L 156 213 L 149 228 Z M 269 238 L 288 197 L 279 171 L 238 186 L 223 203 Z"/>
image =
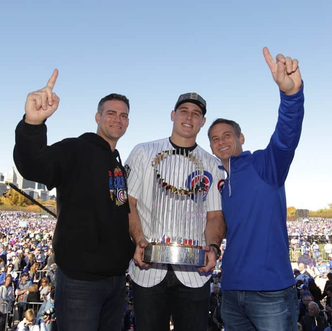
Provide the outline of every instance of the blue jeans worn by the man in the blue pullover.
<path id="1" fill-rule="evenodd" d="M 227 331 L 297 331 L 295 285 L 280 291 L 223 291 L 221 317 Z"/>

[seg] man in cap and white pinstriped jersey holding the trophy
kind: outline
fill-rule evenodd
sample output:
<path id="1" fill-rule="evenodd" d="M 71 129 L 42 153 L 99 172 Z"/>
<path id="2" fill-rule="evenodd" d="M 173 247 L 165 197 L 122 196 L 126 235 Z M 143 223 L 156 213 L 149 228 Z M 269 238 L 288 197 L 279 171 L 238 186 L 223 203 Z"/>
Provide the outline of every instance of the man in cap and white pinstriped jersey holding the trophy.
<path id="1" fill-rule="evenodd" d="M 197 93 L 179 97 L 171 112 L 173 129 L 169 138 L 137 145 L 125 162 L 130 202 L 130 233 L 136 244 L 129 273 L 133 280 L 133 301 L 138 331 L 168 331 L 172 315 L 175 330 L 206 331 L 209 313 L 210 277 L 225 235 L 218 188 L 224 182 L 220 163 L 200 148 L 196 137 L 205 123 L 206 102 Z M 202 238 L 207 265 L 146 264 L 143 251 L 151 226 L 153 168 L 157 153 L 181 149 L 197 154 L 203 162 L 204 187 Z M 174 169 L 173 169 L 174 170 Z M 204 228 L 203 228 L 204 230 Z"/>

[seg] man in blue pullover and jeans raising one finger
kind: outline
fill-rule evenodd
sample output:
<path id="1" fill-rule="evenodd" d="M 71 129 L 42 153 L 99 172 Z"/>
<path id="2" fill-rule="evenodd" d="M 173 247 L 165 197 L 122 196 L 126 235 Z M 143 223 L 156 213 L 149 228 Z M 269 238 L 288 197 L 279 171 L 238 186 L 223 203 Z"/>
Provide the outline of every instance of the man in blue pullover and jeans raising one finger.
<path id="1" fill-rule="evenodd" d="M 216 119 L 208 131 L 227 179 L 219 189 L 226 222 L 221 317 L 227 331 L 298 330 L 298 300 L 288 257 L 284 182 L 299 143 L 303 83 L 298 60 L 263 54 L 280 89 L 278 122 L 266 149 L 242 151 L 240 126 Z M 236 265 L 245 265 L 234 272 Z"/>

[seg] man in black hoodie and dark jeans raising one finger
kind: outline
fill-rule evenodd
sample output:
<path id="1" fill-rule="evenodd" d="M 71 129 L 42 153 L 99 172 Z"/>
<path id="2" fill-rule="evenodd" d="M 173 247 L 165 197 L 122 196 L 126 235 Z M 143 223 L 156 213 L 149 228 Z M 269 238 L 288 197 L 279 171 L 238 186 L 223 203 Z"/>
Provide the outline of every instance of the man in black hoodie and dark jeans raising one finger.
<path id="1" fill-rule="evenodd" d="M 47 146 L 45 121 L 60 101 L 53 92 L 57 76 L 55 69 L 46 87 L 28 95 L 25 116 L 16 129 L 14 160 L 24 178 L 57 189 L 52 246 L 59 268 L 58 330 L 120 330 L 133 243 L 125 171 L 116 143 L 128 126 L 129 100 L 118 94 L 102 98 L 95 116 L 97 134 Z M 89 245 L 82 246 L 82 239 Z M 73 246 L 82 246 L 74 259 L 66 253 Z"/>

